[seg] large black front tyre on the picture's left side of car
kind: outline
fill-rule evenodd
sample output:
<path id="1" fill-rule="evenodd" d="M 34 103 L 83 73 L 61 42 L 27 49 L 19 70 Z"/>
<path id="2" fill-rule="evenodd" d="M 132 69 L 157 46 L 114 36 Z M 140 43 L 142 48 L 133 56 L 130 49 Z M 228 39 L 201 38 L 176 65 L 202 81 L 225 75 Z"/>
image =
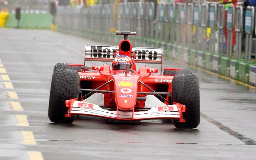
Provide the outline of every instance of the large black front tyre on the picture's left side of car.
<path id="1" fill-rule="evenodd" d="M 53 72 L 50 90 L 48 117 L 54 123 L 72 123 L 75 116 L 65 117 L 68 108 L 66 100 L 77 98 L 79 89 L 79 74 L 77 71 L 57 69 Z"/>

